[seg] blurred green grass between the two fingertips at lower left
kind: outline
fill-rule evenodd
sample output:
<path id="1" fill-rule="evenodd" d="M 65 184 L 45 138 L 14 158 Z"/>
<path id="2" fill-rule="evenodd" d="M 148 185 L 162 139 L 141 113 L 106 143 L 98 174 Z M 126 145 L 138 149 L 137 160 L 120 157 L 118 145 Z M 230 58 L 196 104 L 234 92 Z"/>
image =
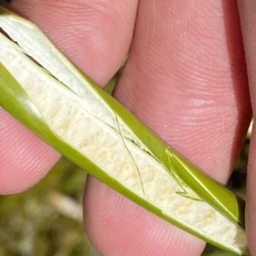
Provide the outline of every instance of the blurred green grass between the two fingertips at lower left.
<path id="1" fill-rule="evenodd" d="M 62 159 L 32 189 L 1 196 L 0 255 L 96 255 L 82 220 L 85 178 L 84 171 Z"/>

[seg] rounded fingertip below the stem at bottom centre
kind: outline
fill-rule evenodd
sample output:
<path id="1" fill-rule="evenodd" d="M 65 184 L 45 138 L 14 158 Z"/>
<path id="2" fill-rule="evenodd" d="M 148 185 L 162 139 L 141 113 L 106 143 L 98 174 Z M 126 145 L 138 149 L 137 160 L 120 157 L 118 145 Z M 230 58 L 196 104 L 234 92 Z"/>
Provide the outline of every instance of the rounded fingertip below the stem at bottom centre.
<path id="1" fill-rule="evenodd" d="M 92 177 L 84 192 L 84 223 L 96 249 L 106 256 L 198 256 L 205 246 Z"/>

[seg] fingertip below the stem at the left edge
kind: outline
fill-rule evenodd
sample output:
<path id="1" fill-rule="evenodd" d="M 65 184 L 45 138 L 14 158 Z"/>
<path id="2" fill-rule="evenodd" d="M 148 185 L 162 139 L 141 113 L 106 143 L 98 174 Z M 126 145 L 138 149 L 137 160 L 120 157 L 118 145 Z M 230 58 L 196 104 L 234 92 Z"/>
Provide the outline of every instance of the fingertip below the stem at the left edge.
<path id="1" fill-rule="evenodd" d="M 60 154 L 0 108 L 0 195 L 20 193 L 38 183 Z"/>

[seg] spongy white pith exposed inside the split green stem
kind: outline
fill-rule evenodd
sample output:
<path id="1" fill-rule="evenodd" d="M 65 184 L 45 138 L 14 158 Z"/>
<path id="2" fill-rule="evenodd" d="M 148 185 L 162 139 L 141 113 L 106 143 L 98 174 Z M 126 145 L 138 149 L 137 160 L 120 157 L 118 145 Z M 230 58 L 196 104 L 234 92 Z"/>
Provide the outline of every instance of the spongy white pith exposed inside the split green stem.
<path id="1" fill-rule="evenodd" d="M 191 199 L 198 198 L 192 189 L 185 188 L 187 197 L 178 195 L 184 189 L 177 180 L 148 154 L 149 149 L 36 26 L 15 15 L 0 15 L 0 27 L 20 45 L 0 33 L 0 61 L 26 90 L 52 131 L 166 216 L 234 252 L 246 250 L 245 231 L 206 202 Z"/>

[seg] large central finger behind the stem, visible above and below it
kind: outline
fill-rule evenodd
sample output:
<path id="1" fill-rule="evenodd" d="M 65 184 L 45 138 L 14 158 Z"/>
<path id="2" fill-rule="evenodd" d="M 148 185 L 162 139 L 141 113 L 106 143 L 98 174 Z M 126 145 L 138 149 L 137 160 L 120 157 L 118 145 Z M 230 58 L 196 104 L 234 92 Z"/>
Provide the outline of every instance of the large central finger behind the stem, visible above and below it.
<path id="1" fill-rule="evenodd" d="M 140 1 L 115 96 L 173 148 L 226 182 L 251 116 L 234 1 Z M 84 218 L 104 255 L 188 255 L 188 248 L 189 256 L 200 255 L 199 239 L 90 183 L 94 194 L 85 194 Z"/>

